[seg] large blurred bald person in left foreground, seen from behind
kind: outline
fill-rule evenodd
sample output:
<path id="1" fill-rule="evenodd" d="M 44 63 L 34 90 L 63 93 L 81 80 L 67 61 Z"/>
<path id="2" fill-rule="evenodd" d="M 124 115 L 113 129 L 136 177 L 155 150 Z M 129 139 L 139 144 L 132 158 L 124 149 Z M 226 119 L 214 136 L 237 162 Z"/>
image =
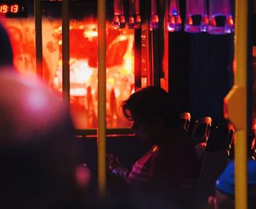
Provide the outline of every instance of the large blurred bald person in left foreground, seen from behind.
<path id="1" fill-rule="evenodd" d="M 80 207 L 69 111 L 45 84 L 1 68 L 0 130 L 0 208 Z"/>

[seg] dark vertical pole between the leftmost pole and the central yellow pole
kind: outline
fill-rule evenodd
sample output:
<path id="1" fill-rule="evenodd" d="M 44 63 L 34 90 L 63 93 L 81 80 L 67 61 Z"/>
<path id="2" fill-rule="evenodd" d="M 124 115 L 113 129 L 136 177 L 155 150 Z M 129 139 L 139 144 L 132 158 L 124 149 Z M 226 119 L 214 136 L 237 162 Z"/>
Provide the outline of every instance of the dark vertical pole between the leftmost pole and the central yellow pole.
<path id="1" fill-rule="evenodd" d="M 62 100 L 69 106 L 69 0 L 61 1 L 62 33 Z"/>

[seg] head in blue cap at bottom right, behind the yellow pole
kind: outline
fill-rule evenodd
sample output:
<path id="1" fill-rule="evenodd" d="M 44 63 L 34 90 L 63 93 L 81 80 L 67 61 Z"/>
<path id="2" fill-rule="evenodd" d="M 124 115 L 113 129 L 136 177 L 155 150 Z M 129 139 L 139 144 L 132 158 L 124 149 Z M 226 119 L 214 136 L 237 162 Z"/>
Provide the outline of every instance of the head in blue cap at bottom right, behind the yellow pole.
<path id="1" fill-rule="evenodd" d="M 208 203 L 214 209 L 235 208 L 234 162 L 230 162 L 216 182 L 215 197 L 209 197 Z M 247 163 L 248 209 L 256 208 L 256 161 Z"/>

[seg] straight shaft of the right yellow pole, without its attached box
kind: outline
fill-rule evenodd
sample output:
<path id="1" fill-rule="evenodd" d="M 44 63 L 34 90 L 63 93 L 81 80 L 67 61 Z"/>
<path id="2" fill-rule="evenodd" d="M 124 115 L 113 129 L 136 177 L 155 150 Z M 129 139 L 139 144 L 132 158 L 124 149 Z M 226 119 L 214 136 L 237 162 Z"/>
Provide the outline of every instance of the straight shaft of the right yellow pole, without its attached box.
<path id="1" fill-rule="evenodd" d="M 235 85 L 241 87 L 242 103 L 239 114 L 244 126 L 238 127 L 236 131 L 235 146 L 235 197 L 236 209 L 247 208 L 247 163 L 246 163 L 246 69 L 247 69 L 247 19 L 248 19 L 248 1 L 236 0 L 236 25 L 235 25 L 235 60 L 236 75 Z"/>

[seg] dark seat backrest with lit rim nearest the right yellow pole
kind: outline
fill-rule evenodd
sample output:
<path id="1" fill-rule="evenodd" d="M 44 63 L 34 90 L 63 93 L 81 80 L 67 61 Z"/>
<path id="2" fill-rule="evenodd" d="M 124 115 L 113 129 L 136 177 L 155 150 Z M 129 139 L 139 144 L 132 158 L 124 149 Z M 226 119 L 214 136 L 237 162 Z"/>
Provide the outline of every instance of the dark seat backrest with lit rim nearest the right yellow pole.
<path id="1" fill-rule="evenodd" d="M 229 155 L 231 146 L 233 145 L 233 133 L 234 127 L 230 122 L 217 125 L 212 137 L 208 138 L 206 151 L 226 150 Z"/>

